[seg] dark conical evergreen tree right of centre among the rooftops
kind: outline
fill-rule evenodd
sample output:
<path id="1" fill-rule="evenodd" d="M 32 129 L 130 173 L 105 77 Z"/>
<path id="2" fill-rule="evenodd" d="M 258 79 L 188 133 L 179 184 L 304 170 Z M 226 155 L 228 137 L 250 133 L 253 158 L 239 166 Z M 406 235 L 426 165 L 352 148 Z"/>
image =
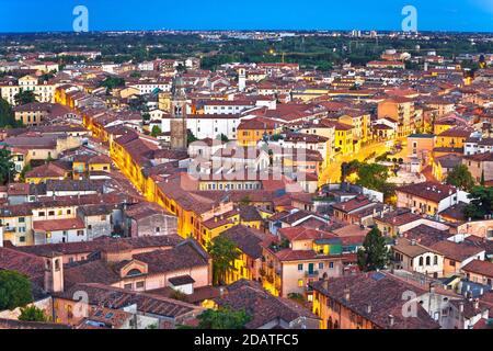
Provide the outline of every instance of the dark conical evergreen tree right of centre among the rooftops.
<path id="1" fill-rule="evenodd" d="M 383 269 L 390 261 L 390 252 L 386 245 L 386 238 L 378 228 L 372 228 L 363 241 L 363 248 L 358 250 L 358 265 L 362 271 L 375 271 Z"/>

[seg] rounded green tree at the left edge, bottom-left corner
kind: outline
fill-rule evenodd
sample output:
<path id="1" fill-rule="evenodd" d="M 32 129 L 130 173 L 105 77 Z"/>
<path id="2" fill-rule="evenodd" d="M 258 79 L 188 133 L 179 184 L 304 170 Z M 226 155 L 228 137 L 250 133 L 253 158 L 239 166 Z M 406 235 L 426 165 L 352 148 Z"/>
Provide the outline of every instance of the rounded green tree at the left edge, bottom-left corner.
<path id="1" fill-rule="evenodd" d="M 18 271 L 0 271 L 0 310 L 14 309 L 33 302 L 31 282 Z"/>

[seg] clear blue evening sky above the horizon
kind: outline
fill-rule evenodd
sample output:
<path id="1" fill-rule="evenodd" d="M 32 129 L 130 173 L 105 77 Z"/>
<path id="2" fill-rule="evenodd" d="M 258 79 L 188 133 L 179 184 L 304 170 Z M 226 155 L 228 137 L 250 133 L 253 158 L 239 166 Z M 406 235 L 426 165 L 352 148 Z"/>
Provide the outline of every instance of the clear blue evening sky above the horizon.
<path id="1" fill-rule="evenodd" d="M 89 30 L 400 30 L 493 32 L 493 0 L 0 0 L 0 32 L 71 31 L 76 5 Z"/>

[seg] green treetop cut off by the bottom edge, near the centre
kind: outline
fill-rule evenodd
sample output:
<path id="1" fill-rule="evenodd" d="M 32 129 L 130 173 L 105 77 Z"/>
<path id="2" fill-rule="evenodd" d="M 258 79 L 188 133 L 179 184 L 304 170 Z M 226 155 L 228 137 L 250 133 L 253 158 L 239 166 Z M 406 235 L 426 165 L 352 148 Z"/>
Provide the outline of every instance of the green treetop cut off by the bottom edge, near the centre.
<path id="1" fill-rule="evenodd" d="M 207 309 L 197 319 L 198 329 L 244 329 L 252 317 L 243 309 L 219 308 Z"/>

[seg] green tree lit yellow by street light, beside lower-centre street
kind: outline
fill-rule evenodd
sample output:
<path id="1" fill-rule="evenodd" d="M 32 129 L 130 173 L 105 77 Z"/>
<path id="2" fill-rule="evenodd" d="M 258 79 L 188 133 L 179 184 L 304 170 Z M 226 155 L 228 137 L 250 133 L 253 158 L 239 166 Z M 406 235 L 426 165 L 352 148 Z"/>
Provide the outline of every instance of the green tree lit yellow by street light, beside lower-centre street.
<path id="1" fill-rule="evenodd" d="M 240 258 L 240 250 L 229 238 L 218 236 L 207 245 L 207 251 L 213 258 L 214 284 L 221 284 L 226 274 L 236 270 L 234 260 Z"/>

